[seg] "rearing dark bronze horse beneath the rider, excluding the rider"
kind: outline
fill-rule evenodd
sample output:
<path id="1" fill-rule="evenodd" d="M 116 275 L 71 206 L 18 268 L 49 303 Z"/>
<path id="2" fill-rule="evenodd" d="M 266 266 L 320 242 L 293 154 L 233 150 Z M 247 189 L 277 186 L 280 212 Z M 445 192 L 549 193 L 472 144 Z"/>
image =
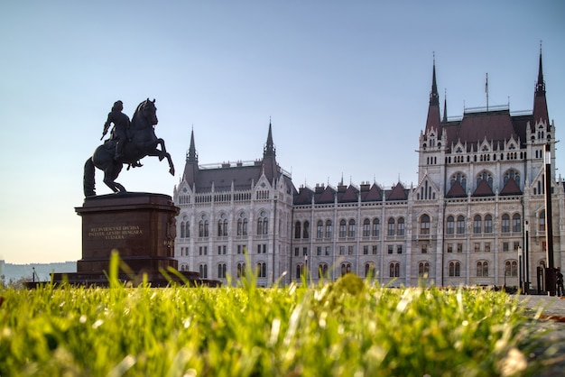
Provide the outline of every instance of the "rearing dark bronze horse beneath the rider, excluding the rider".
<path id="1" fill-rule="evenodd" d="M 122 156 L 115 159 L 116 140 L 110 137 L 104 144 L 97 147 L 92 157 L 84 164 L 83 189 L 85 197 L 96 196 L 95 168 L 104 171 L 104 183 L 114 192 L 125 192 L 124 186 L 116 182 L 124 164 L 141 166 L 139 161 L 145 156 L 166 158 L 169 161 L 169 172 L 174 175 L 171 154 L 165 148 L 165 142 L 155 136 L 154 125 L 158 123 L 155 100 L 144 100 L 135 109 L 132 122 L 127 131 L 129 140 L 124 145 Z M 161 145 L 161 149 L 157 146 Z M 129 169 L 129 167 L 128 167 Z"/>

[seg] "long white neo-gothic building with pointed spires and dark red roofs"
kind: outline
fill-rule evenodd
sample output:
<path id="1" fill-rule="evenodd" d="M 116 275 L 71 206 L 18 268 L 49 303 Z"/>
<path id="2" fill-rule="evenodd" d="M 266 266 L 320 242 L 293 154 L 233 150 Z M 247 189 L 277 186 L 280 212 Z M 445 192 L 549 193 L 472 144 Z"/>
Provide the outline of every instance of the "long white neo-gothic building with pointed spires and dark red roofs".
<path id="1" fill-rule="evenodd" d="M 535 290 L 546 263 L 546 144 L 554 261 L 562 266 L 565 185 L 555 177 L 542 54 L 526 115 L 496 106 L 453 120 L 444 102 L 441 117 L 434 64 L 415 187 L 341 182 L 297 190 L 275 159 L 271 124 L 263 158 L 251 162 L 199 165 L 192 133 L 174 189 L 175 257 L 181 270 L 224 282 L 250 269 L 262 286 L 347 272 L 393 286 L 519 286 L 527 254 Z"/>

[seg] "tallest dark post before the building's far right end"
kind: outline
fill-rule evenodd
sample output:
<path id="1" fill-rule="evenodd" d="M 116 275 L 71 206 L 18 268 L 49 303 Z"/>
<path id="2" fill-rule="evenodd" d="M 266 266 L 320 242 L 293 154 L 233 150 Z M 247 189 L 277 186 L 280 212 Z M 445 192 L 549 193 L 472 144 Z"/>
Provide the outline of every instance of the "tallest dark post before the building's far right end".
<path id="1" fill-rule="evenodd" d="M 545 268 L 545 289 L 548 296 L 555 296 L 555 264 L 553 262 L 553 229 L 551 215 L 551 146 L 545 144 L 545 244 L 547 267 Z"/>

